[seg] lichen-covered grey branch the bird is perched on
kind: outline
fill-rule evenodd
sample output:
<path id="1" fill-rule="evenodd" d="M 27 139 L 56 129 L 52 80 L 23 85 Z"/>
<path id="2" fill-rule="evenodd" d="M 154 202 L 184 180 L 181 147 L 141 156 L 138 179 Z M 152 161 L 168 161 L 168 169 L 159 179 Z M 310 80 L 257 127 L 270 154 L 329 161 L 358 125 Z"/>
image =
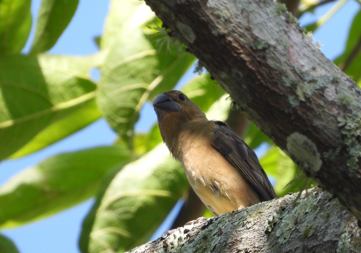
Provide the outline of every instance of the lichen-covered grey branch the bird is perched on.
<path id="1" fill-rule="evenodd" d="M 360 252 L 357 219 L 313 189 L 178 228 L 129 252 Z"/>

